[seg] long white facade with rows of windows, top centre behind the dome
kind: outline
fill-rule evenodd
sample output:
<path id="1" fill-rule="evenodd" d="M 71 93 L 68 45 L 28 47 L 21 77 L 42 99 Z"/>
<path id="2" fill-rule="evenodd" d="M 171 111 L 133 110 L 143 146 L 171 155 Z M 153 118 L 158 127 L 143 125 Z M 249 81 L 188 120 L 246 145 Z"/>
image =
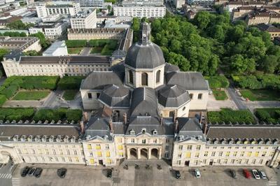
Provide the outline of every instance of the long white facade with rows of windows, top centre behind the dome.
<path id="1" fill-rule="evenodd" d="M 113 8 L 115 16 L 132 16 L 132 17 L 165 17 L 165 6 L 116 6 Z"/>

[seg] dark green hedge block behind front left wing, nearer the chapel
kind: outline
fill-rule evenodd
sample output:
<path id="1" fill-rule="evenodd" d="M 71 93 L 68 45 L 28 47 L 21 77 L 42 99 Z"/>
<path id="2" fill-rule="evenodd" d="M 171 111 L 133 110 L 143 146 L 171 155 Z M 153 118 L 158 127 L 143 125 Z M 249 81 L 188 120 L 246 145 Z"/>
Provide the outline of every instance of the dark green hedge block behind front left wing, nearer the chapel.
<path id="1" fill-rule="evenodd" d="M 51 120 L 55 120 L 57 122 L 58 120 L 68 120 L 71 122 L 71 120 L 78 122 L 82 117 L 82 110 L 79 109 L 73 109 L 69 110 L 67 108 L 58 108 L 58 109 L 41 109 L 38 110 L 33 120 L 38 122 L 38 120 L 41 120 L 44 122 L 45 120 L 48 120 L 49 122 Z"/>

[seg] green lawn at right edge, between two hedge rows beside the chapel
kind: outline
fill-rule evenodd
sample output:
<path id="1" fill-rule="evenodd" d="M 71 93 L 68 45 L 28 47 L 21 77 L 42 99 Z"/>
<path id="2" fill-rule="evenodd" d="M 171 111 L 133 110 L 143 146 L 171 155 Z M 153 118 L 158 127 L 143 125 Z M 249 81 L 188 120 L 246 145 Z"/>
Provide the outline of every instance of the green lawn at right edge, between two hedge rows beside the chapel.
<path id="1" fill-rule="evenodd" d="M 250 101 L 280 101 L 280 92 L 276 90 L 241 90 L 240 92 Z"/>

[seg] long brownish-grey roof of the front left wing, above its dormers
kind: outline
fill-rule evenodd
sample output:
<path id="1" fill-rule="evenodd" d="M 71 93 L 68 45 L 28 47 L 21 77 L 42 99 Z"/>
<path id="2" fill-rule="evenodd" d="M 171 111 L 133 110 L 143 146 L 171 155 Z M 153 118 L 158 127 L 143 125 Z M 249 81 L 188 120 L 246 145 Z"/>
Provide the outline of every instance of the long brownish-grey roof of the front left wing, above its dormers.
<path id="1" fill-rule="evenodd" d="M 0 124 L 0 137 L 7 136 L 80 136 L 78 127 L 62 125 Z"/>

